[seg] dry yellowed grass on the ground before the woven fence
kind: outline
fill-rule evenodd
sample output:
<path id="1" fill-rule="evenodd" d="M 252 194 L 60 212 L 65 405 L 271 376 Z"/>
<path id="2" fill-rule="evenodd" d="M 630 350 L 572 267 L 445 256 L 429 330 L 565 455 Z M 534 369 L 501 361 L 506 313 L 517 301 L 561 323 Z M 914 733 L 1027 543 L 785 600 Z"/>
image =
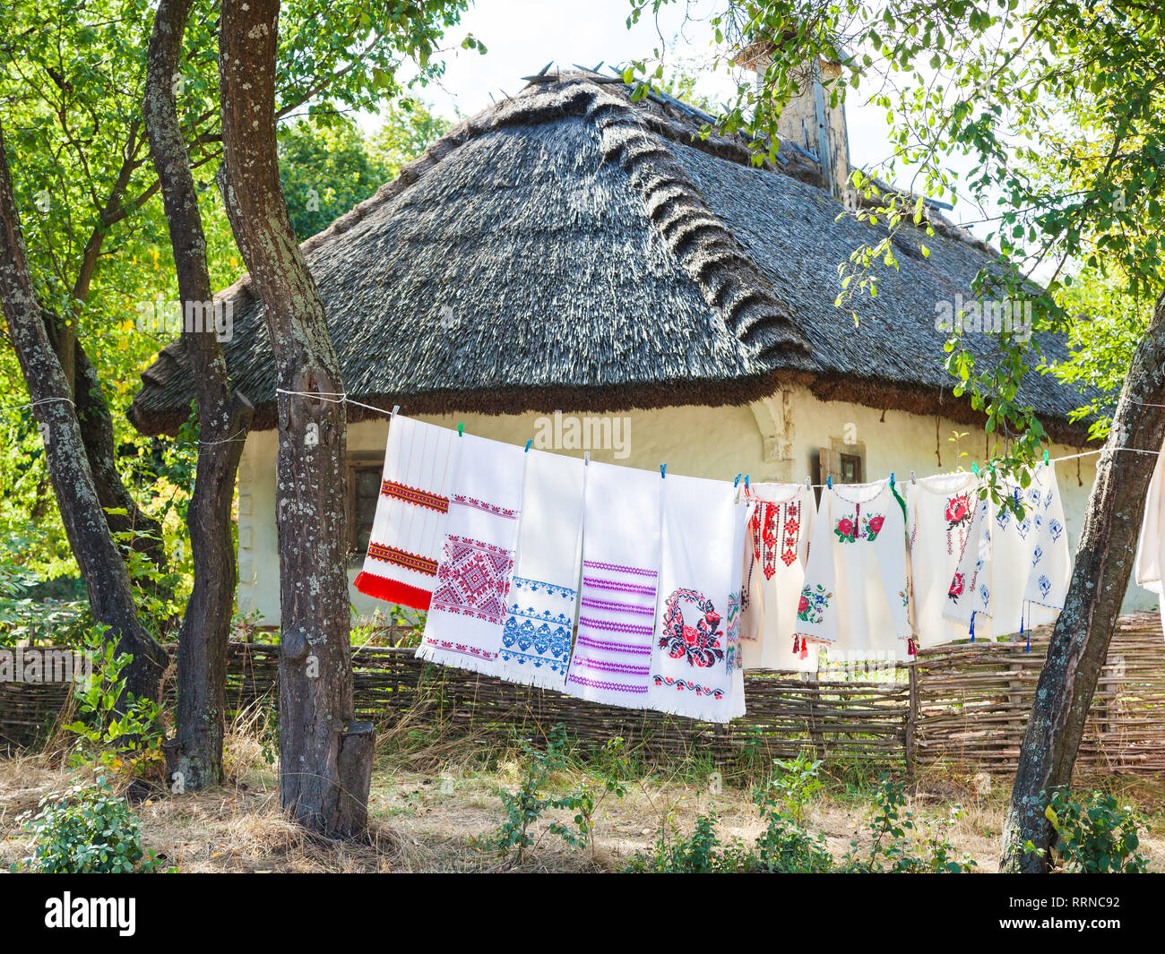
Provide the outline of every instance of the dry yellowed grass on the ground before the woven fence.
<path id="1" fill-rule="evenodd" d="M 329 841 L 308 835 L 280 812 L 276 773 L 264 757 L 261 727 L 256 712 L 235 721 L 227 741 L 228 784 L 137 801 L 144 842 L 165 864 L 182 871 L 610 871 L 649 848 L 661 826 L 690 831 L 696 817 L 713 807 L 721 842 L 734 838 L 751 842 L 762 831 L 748 790 L 726 786 L 713 796 L 702 769 L 641 766 L 622 799 L 608 796 L 600 803 L 592 849 L 571 849 L 549 833 L 556 814 L 566 820 L 565 813 L 552 812 L 536 824 L 537 845 L 515 865 L 478 840 L 496 828 L 497 791 L 518 784 L 521 757 L 496 734 L 454 737 L 422 729 L 418 720 L 407 718 L 384 730 L 377 743 L 368 838 L 358 843 Z M 50 756 L 0 758 L 0 864 L 7 868 L 31 850 L 15 821 L 19 814 L 35 810 L 43 796 L 91 777 L 91 771 L 63 768 Z M 552 777 L 551 786 L 566 792 L 582 780 L 601 786 L 582 764 Z M 807 811 L 811 827 L 824 833 L 835 856 L 845 854 L 850 841 L 866 841 L 869 791 L 853 782 L 831 784 Z M 1160 785 L 1117 777 L 1104 784 L 1155 818 L 1143 851 L 1153 869 L 1165 869 Z M 911 811 L 922 818 L 944 818 L 961 806 L 962 815 L 949 831 L 956 854 L 966 851 L 979 871 L 996 870 L 1007 806 L 1004 780 L 932 772 L 912 783 L 909 793 Z"/>

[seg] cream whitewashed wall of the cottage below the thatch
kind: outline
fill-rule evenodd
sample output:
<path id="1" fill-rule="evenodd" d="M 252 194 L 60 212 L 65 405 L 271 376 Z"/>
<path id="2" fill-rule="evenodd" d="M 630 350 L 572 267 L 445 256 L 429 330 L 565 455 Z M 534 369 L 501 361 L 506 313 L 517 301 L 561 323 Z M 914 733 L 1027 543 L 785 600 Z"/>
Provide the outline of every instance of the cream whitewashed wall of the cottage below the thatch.
<path id="1" fill-rule="evenodd" d="M 567 416 L 570 417 L 570 416 Z M 576 415 L 574 417 L 581 417 Z M 896 474 L 898 481 L 945 473 L 959 464 L 982 461 L 986 440 L 982 430 L 955 425 L 933 417 L 902 411 L 882 411 L 842 402 L 821 402 L 804 390 L 785 391 L 767 402 L 744 408 L 662 408 L 629 411 L 628 455 L 616 459 L 610 448 L 593 448 L 593 460 L 656 469 L 668 464 L 669 473 L 732 480 L 748 473 L 754 481 L 803 481 L 814 473 L 814 454 L 831 440 L 856 440 L 866 450 L 866 479 Z M 424 416 L 422 419 L 447 427 L 465 422 L 466 430 L 482 437 L 524 445 L 537 433 L 543 415 Z M 953 433 L 970 431 L 959 450 L 967 457 L 958 461 L 949 440 Z M 383 453 L 388 422 L 369 421 L 348 429 L 348 450 Z M 1079 448 L 1055 445 L 1052 457 L 1076 453 Z M 938 451 L 938 453 L 935 453 Z M 581 450 L 564 450 L 581 455 Z M 940 462 L 941 461 L 941 462 Z M 1069 544 L 1075 549 L 1088 492 L 1095 476 L 1095 457 L 1073 460 L 1057 467 L 1064 494 Z M 275 530 L 275 432 L 262 431 L 247 438 L 239 468 L 239 612 L 257 610 L 262 622 L 278 623 L 280 574 Z M 350 571 L 350 579 L 355 578 Z M 352 602 L 361 615 L 382 605 L 362 593 L 352 592 Z M 1156 596 L 1131 585 L 1125 610 L 1151 609 Z"/>

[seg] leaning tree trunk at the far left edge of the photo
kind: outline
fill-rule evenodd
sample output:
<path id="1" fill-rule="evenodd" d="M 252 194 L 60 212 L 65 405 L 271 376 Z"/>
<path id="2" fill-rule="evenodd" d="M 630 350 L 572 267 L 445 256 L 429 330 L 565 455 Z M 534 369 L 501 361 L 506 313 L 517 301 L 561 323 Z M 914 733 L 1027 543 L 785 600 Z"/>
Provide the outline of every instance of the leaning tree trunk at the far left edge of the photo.
<path id="1" fill-rule="evenodd" d="M 44 434 L 49 476 L 69 544 L 89 589 L 93 617 L 110 627 L 110 636 L 119 651 L 133 653 L 133 663 L 126 669 L 127 691 L 156 700 L 165 669 L 165 651 L 141 627 L 129 573 L 101 511 L 71 389 L 49 342 L 44 313 L 33 290 L 2 129 L 0 297 L 34 414 Z"/>

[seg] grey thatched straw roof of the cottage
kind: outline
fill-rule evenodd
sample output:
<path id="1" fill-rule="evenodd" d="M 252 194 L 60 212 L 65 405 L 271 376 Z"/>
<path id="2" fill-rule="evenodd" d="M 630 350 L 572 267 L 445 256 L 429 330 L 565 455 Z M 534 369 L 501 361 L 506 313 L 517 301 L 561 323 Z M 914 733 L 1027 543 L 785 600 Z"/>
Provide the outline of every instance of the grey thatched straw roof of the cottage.
<path id="1" fill-rule="evenodd" d="M 939 229 L 897 249 L 876 298 L 838 309 L 838 264 L 870 226 L 819 188 L 790 147 L 755 168 L 746 146 L 696 135 L 666 99 L 633 103 L 593 73 L 543 76 L 466 120 L 400 177 L 304 242 L 346 391 L 410 414 L 593 412 L 741 404 L 782 384 L 824 398 L 980 419 L 951 395 L 937 301 L 990 260 Z M 232 377 L 275 425 L 275 369 L 243 277 L 226 346 Z M 993 335 L 972 335 L 988 355 Z M 1052 360 L 1062 342 L 1043 341 Z M 1080 395 L 1031 375 L 1053 432 Z M 129 417 L 172 433 L 193 388 L 181 341 L 142 374 Z M 350 409 L 350 419 L 368 412 Z"/>

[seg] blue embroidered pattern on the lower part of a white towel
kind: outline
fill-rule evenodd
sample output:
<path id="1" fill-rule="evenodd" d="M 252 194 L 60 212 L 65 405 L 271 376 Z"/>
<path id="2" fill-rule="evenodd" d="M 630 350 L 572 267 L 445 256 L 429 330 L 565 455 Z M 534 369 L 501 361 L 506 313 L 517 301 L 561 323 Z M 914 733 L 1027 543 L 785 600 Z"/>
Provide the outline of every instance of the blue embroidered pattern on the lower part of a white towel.
<path id="1" fill-rule="evenodd" d="M 513 577 L 501 658 L 565 674 L 571 658 L 574 596 L 576 591 L 566 586 Z M 544 608 L 539 610 L 534 603 Z"/>

